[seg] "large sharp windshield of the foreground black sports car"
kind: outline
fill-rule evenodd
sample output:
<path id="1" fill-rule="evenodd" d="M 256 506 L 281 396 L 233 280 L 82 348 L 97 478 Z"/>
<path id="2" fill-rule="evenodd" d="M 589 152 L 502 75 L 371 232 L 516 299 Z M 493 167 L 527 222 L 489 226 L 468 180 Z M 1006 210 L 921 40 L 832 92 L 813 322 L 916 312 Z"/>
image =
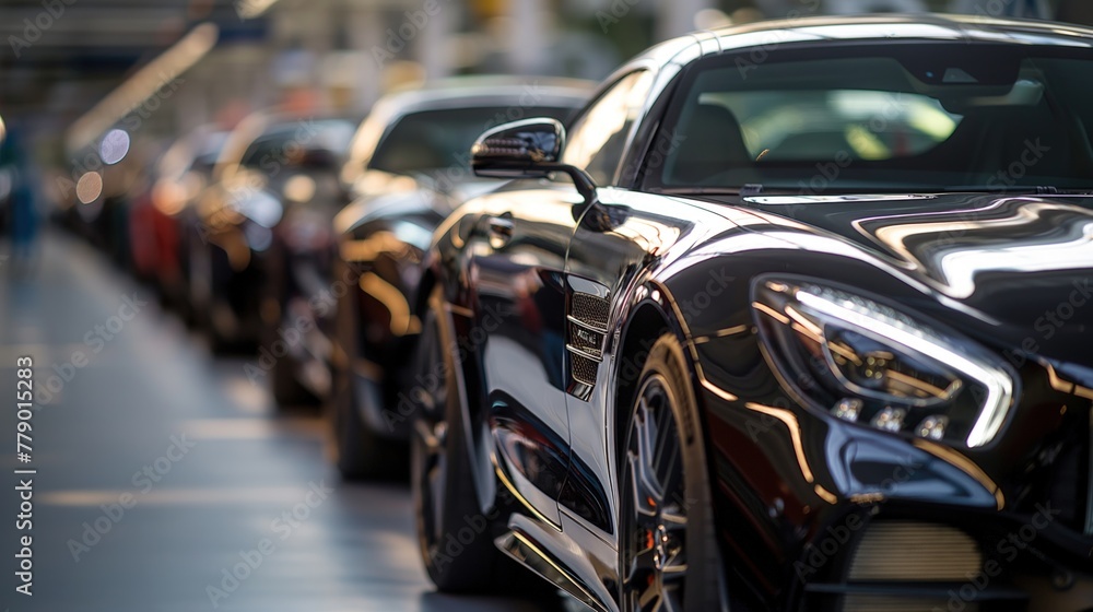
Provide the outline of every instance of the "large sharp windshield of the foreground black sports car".
<path id="1" fill-rule="evenodd" d="M 702 60 L 647 186 L 800 193 L 1093 188 L 1093 54 L 886 44 Z M 659 161 L 659 160 L 658 160 Z"/>

